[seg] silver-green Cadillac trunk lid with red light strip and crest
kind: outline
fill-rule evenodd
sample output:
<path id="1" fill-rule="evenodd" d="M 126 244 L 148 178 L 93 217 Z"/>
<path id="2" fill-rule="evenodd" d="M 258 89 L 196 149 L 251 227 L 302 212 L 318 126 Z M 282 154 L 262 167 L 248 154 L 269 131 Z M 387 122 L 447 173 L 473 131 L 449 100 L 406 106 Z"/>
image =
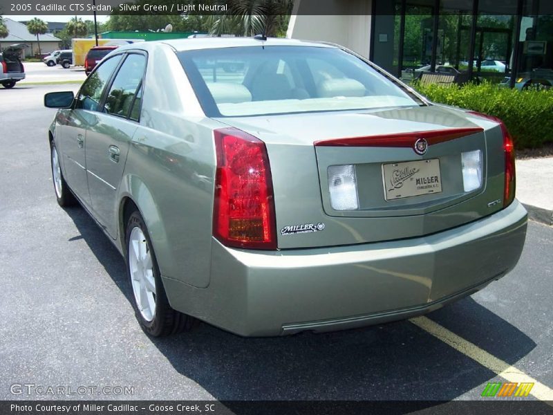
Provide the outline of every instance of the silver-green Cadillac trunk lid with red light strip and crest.
<path id="1" fill-rule="evenodd" d="M 501 208 L 494 203 L 503 192 L 501 130 L 462 111 L 429 106 L 219 120 L 267 146 L 279 248 L 420 237 Z M 420 139 L 424 154 L 415 151 Z M 481 185 L 466 191 L 462 154 L 475 152 Z M 355 208 L 332 202 L 330 172 L 339 166 L 355 171 Z"/>

